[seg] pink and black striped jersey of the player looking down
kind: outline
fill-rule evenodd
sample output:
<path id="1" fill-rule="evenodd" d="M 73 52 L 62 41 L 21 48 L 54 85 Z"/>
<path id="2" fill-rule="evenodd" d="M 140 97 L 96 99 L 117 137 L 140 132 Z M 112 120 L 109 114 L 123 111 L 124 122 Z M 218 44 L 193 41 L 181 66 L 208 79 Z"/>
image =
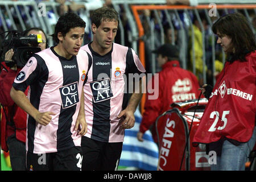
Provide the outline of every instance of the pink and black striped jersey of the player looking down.
<path id="1" fill-rule="evenodd" d="M 129 75 L 146 72 L 135 51 L 113 43 L 112 50 L 101 56 L 90 43 L 81 47 L 92 56 L 92 68 L 84 86 L 85 137 L 101 142 L 123 142 L 124 129 L 119 113 L 126 108 L 131 93 Z"/>

